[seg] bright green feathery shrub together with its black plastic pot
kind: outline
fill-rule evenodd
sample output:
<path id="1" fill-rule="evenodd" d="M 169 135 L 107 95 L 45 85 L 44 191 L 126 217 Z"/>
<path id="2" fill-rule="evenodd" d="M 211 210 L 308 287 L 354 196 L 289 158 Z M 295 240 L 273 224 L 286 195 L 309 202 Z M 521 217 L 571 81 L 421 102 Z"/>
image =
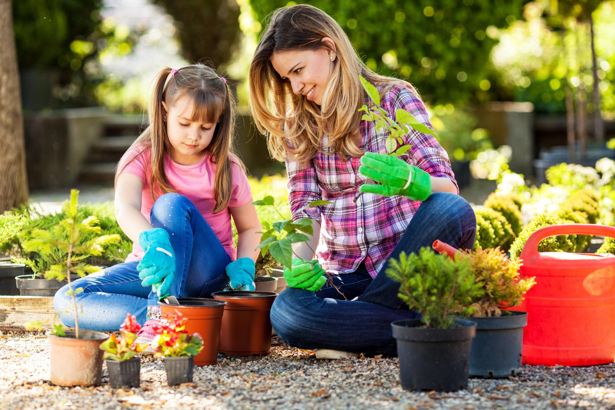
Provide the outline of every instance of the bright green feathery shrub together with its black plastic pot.
<path id="1" fill-rule="evenodd" d="M 399 297 L 420 319 L 391 323 L 397 339 L 400 379 L 407 390 L 455 391 L 466 388 L 476 324 L 453 318 L 470 315 L 472 301 L 483 293 L 469 261 L 457 261 L 429 248 L 399 260 L 391 259 L 386 274 L 400 282 Z"/>

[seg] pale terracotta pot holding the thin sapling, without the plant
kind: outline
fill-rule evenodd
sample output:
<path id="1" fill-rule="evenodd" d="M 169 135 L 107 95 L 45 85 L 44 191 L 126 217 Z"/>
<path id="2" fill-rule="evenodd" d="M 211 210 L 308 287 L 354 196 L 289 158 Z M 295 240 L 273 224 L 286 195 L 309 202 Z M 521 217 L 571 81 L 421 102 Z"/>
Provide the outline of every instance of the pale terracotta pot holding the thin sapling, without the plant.
<path id="1" fill-rule="evenodd" d="M 79 339 L 75 339 L 74 331 L 66 331 L 66 336 L 48 334 L 51 382 L 60 386 L 99 385 L 103 371 L 99 346 L 108 338 L 108 334 L 89 331 L 80 331 Z"/>

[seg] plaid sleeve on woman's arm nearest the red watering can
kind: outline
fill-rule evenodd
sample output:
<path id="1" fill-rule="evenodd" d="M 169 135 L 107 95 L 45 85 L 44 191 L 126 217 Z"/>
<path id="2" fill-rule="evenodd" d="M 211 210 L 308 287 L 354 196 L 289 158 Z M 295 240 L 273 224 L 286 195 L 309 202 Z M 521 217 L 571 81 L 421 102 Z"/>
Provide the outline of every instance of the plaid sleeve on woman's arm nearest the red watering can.
<path id="1" fill-rule="evenodd" d="M 401 108 L 410 112 L 421 124 L 426 125 L 432 130 L 434 129 L 423 101 L 413 92 L 405 87 L 395 86 L 388 94 L 391 97 L 391 109 L 389 112 L 394 120 L 397 120 L 395 112 Z M 402 139 L 404 144 L 410 144 L 412 148 L 408 151 L 410 156 L 405 155 L 401 158 L 408 162 L 408 164 L 421 168 L 431 176 L 450 179 L 453 181 L 457 193 L 459 193 L 459 186 L 457 181 L 455 181 L 450 159 L 445 149 L 438 143 L 438 140 L 429 134 L 418 132 L 411 127 L 408 128 L 410 128 L 410 132 L 404 135 Z"/>

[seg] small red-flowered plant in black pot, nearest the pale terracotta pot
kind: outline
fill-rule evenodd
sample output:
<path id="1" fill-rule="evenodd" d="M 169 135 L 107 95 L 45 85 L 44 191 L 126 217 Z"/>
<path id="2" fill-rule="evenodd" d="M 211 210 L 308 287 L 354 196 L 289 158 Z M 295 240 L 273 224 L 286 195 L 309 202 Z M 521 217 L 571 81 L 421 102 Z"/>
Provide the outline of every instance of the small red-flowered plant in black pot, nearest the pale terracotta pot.
<path id="1" fill-rule="evenodd" d="M 137 323 L 137 318 L 128 313 L 119 328 L 122 338 L 118 340 L 115 334 L 111 334 L 109 339 L 100 345 L 100 349 L 105 350 L 103 358 L 107 364 L 111 388 L 141 385 L 141 358 L 135 355 L 142 349 L 138 344 L 133 345 L 139 329 L 141 325 Z"/>

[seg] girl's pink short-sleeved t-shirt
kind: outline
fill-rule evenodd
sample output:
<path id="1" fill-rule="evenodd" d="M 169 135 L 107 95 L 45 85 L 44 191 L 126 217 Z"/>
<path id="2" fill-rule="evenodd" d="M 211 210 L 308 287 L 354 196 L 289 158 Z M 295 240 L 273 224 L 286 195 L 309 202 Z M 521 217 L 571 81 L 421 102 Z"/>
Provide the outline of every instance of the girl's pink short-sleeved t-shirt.
<path id="1" fill-rule="evenodd" d="M 124 160 L 132 158 L 139 149 L 126 152 L 120 161 L 120 166 Z M 149 212 L 154 205 L 151 190 L 149 188 L 149 178 L 151 178 L 151 149 L 146 149 L 137 158 L 126 165 L 122 172 L 137 175 L 143 181 L 143 192 L 141 193 L 141 213 L 149 221 Z M 147 171 L 146 171 L 147 170 Z M 248 178 L 244 170 L 233 162 L 232 170 L 232 191 L 229 207 L 241 207 L 246 203 L 253 202 L 252 191 L 248 184 Z M 237 250 L 233 247 L 231 213 L 227 207 L 218 213 L 213 213 L 216 201 L 213 196 L 213 183 L 216 176 L 216 164 L 210 161 L 209 152 L 206 151 L 205 158 L 194 165 L 180 165 L 173 162 L 169 157 L 165 157 L 164 173 L 170 186 L 178 194 L 185 195 L 194 206 L 199 210 L 200 215 L 212 227 L 216 237 L 220 239 L 224 250 L 231 256 L 232 260 L 237 259 Z M 138 261 L 143 258 L 143 250 L 138 242 L 133 242 L 132 253 L 126 258 L 126 262 Z"/>

